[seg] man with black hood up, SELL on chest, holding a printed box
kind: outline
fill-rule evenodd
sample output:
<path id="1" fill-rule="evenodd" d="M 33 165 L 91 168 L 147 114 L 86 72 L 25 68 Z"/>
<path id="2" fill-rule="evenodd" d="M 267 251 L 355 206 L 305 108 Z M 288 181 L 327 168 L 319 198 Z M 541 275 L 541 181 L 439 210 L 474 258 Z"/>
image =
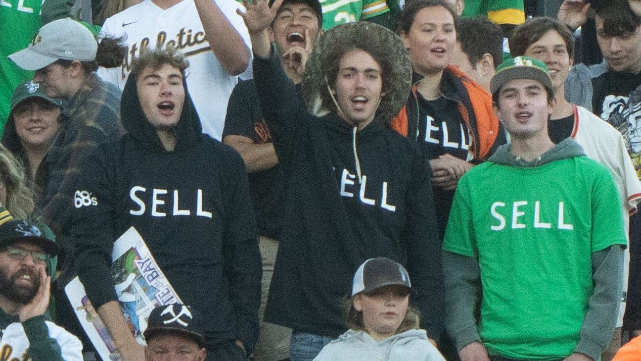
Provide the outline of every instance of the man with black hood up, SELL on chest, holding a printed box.
<path id="1" fill-rule="evenodd" d="M 124 87 L 128 134 L 83 170 L 76 270 L 122 360 L 144 359 L 110 277 L 113 241 L 135 226 L 182 301 L 203 314 L 208 360 L 245 360 L 258 336 L 260 253 L 240 156 L 201 134 L 175 49 L 147 51 Z"/>

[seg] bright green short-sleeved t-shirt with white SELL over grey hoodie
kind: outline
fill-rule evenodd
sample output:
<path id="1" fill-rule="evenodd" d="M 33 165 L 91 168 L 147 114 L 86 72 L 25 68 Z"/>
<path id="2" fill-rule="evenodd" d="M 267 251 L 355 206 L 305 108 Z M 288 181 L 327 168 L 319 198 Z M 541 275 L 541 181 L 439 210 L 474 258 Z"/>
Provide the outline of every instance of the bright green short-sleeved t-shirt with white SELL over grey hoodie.
<path id="1" fill-rule="evenodd" d="M 535 168 L 486 162 L 458 183 L 444 250 L 477 258 L 490 355 L 569 356 L 592 295 L 592 252 L 626 245 L 612 176 L 587 157 Z"/>

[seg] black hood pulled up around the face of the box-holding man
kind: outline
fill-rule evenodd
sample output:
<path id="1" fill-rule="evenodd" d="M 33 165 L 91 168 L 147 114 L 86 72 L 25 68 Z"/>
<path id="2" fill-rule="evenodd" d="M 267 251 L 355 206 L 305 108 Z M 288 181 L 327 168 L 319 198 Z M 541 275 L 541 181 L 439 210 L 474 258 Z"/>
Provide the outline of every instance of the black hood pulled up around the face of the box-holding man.
<path id="1" fill-rule="evenodd" d="M 121 121 L 129 136 L 136 139 L 144 148 L 156 152 L 165 152 L 165 148 L 156 133 L 156 129 L 149 123 L 140 106 L 138 98 L 138 87 L 136 85 L 138 76 L 131 74 L 127 79 L 122 91 L 121 100 Z M 196 107 L 192 102 L 191 96 L 187 90 L 187 82 L 183 78 L 185 86 L 185 102 L 183 103 L 183 112 L 178 119 L 178 124 L 174 128 L 176 132 L 176 148 L 182 150 L 190 148 L 199 137 L 202 136 L 203 128 L 196 112 Z"/>

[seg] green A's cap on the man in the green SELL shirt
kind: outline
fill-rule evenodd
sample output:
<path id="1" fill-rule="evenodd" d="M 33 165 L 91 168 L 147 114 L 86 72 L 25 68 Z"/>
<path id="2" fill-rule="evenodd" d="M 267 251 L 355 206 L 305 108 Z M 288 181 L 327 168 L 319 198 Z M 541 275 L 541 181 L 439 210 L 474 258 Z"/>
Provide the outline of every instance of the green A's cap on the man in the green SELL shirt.
<path id="1" fill-rule="evenodd" d="M 496 68 L 496 74 L 490 82 L 492 94 L 499 91 L 507 82 L 515 79 L 532 79 L 543 84 L 545 89 L 554 94 L 552 78 L 547 70 L 547 65 L 541 60 L 530 57 L 508 58 Z"/>

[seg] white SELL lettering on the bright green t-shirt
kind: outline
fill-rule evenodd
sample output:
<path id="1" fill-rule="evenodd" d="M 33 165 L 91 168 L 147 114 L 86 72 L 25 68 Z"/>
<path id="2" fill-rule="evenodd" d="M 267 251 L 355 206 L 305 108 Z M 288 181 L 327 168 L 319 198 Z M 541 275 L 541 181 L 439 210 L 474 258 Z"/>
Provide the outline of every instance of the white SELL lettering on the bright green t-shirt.
<path id="1" fill-rule="evenodd" d="M 498 221 L 498 224 L 490 225 L 490 229 L 492 229 L 492 231 L 503 231 L 507 226 L 506 216 L 504 216 L 504 214 L 509 215 L 510 209 L 512 211 L 510 228 L 512 229 L 524 229 L 528 227 L 551 229 L 554 220 L 547 220 L 549 222 L 545 222 L 546 220 L 541 217 L 541 207 L 541 202 L 538 200 L 535 201 L 534 204 L 527 200 L 517 200 L 512 202 L 512 206 L 504 202 L 494 202 L 490 207 L 490 215 Z M 565 223 L 567 216 L 565 215 L 564 209 L 564 202 L 558 202 L 558 217 L 554 225 L 556 225 L 556 229 L 572 231 L 574 230 L 574 225 Z"/>

